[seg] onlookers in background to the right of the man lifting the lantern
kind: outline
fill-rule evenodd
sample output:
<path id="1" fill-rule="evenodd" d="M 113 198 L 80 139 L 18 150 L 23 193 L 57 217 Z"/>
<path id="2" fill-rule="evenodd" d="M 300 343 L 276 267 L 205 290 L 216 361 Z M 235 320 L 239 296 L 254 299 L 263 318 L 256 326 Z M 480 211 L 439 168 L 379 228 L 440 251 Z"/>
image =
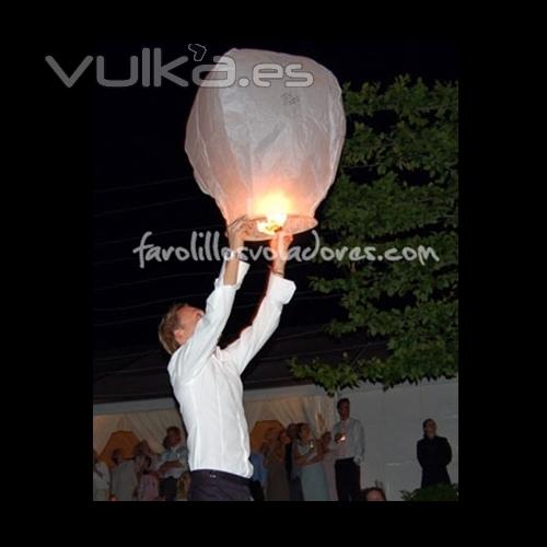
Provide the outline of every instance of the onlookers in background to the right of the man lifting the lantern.
<path id="1" fill-rule="evenodd" d="M 387 501 L 380 487 L 361 489 L 363 427 L 350 417 L 348 398 L 340 399 L 337 409 L 340 420 L 318 439 L 307 423 L 266 432 L 261 446 L 251 454 L 255 501 Z M 437 435 L 432 419 L 422 426 L 423 438 L 417 443 L 421 488 L 450 484 L 450 443 Z"/>

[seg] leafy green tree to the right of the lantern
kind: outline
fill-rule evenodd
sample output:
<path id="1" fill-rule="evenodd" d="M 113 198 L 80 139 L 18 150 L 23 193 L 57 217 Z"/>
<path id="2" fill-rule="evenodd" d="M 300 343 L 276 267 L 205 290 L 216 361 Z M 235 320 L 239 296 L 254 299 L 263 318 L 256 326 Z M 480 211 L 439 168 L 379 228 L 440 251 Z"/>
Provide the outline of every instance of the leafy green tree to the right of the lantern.
<path id="1" fill-rule="evenodd" d="M 408 75 L 385 89 L 344 86 L 348 137 L 319 219 L 322 245 L 375 249 L 361 260 L 347 253 L 335 276 L 310 281 L 321 293 L 340 293 L 347 317 L 333 321 L 330 334 L 384 339 L 388 356 L 334 368 L 293 360 L 296 377 L 333 394 L 360 380 L 388 387 L 456 375 L 457 93 L 457 82 L 427 85 Z M 389 249 L 397 253 L 384 255 Z M 420 259 L 428 249 L 434 253 Z"/>

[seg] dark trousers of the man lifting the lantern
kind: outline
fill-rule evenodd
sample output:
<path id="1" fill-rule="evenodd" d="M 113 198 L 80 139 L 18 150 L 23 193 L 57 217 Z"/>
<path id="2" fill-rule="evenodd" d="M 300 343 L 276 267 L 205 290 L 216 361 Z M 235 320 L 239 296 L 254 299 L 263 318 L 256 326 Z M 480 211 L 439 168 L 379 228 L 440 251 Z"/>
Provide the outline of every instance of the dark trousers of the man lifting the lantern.
<path id="1" fill-rule="evenodd" d="M 188 501 L 253 501 L 248 484 L 248 479 L 231 473 L 191 472 Z"/>

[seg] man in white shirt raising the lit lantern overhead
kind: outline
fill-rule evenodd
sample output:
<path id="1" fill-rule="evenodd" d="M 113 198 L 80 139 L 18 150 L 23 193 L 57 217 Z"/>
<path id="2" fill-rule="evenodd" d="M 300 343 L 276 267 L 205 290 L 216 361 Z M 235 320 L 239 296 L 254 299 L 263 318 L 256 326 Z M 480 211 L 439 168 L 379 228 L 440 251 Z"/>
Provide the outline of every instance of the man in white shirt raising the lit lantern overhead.
<path id="1" fill-rule="evenodd" d="M 276 330 L 282 306 L 295 291 L 294 283 L 283 278 L 292 237 L 278 233 L 270 244 L 274 260 L 268 288 L 253 324 L 235 342 L 218 347 L 235 292 L 248 270 L 238 251 L 252 230 L 246 218 L 229 226 L 231 252 L 206 311 L 176 305 L 160 324 L 160 341 L 172 353 L 171 384 L 188 431 L 190 501 L 251 500 L 253 466 L 240 375 Z"/>

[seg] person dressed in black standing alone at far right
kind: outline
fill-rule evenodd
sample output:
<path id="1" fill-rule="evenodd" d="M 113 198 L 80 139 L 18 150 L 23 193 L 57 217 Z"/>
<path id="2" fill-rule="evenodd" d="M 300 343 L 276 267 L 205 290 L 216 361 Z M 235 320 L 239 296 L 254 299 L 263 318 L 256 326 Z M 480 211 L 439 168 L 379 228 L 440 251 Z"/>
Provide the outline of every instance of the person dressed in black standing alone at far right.
<path id="1" fill-rule="evenodd" d="M 444 437 L 437 435 L 437 423 L 431 418 L 423 422 L 423 439 L 417 445 L 421 465 L 421 488 L 432 485 L 450 485 L 446 466 L 452 461 L 452 449 Z"/>

